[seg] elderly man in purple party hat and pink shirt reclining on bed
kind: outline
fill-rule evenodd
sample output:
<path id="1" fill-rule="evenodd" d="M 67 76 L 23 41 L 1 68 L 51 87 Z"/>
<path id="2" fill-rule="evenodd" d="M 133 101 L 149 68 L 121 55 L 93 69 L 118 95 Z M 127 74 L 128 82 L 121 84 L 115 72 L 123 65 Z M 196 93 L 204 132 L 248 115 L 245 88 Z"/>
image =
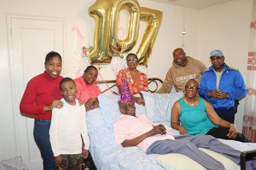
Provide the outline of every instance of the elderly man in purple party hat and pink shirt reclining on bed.
<path id="1" fill-rule="evenodd" d="M 134 103 L 125 80 L 121 100 L 119 100 L 119 110 L 122 115 L 114 124 L 117 144 L 123 147 L 137 146 L 147 154 L 181 153 L 197 161 L 206 169 L 225 169 L 225 167 L 197 147 L 221 153 L 237 164 L 240 162 L 240 151 L 221 143 L 211 135 L 193 136 L 167 133 L 163 125 L 155 125 L 147 117 L 136 114 Z"/>

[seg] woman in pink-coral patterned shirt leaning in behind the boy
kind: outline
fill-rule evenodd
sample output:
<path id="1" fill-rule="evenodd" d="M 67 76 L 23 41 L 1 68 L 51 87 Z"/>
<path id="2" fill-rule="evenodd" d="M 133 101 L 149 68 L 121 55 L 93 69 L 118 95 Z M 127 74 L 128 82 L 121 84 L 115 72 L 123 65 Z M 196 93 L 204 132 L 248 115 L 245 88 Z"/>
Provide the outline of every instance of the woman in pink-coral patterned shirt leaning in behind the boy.
<path id="1" fill-rule="evenodd" d="M 77 85 L 77 98 L 80 98 L 85 103 L 85 110 L 99 108 L 97 96 L 101 94 L 101 90 L 95 84 L 98 76 L 98 70 L 95 66 L 87 66 L 83 76 L 75 78 Z"/>

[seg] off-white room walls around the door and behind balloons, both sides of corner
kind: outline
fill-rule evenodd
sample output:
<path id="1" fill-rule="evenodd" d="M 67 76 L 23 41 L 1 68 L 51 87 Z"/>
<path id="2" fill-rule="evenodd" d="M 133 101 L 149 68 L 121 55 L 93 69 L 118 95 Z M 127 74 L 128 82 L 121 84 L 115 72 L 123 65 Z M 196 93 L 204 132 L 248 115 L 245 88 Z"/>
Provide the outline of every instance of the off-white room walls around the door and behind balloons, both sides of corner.
<path id="1" fill-rule="evenodd" d="M 95 26 L 94 19 L 89 17 L 87 9 L 94 2 L 92 0 L 0 0 L 0 160 L 17 155 L 9 78 L 6 13 L 64 18 L 66 20 L 64 76 L 75 78 L 74 35 L 71 27 L 79 27 L 84 36 L 89 34 L 89 31 Z M 206 56 L 209 55 L 209 51 L 221 48 L 227 56 L 227 63 L 237 66 L 245 78 L 245 58 L 247 58 L 249 42 L 247 26 L 249 27 L 249 18 L 251 17 L 249 9 L 251 2 L 252 0 L 235 0 L 201 11 L 185 9 L 187 33 L 183 36 L 181 34 L 183 30 L 183 9 L 181 7 L 140 0 L 139 4 L 142 7 L 163 11 L 163 21 L 148 63 L 149 67 L 139 66 L 139 70 L 145 72 L 149 77 L 165 78 L 173 60 L 174 48 L 183 47 L 187 55 L 200 58 L 205 63 L 208 62 Z M 122 17 L 127 19 L 125 13 Z M 125 22 L 121 23 L 121 26 L 122 24 L 125 25 Z M 140 37 L 144 32 L 143 28 L 145 28 L 145 23 L 141 23 Z M 140 40 L 138 44 L 139 42 Z M 136 50 L 137 46 L 131 52 L 136 52 Z M 41 63 L 43 64 L 43 61 Z M 109 65 L 102 66 L 100 72 L 105 80 L 115 79 L 115 74 Z M 239 109 L 241 110 L 241 108 L 240 106 Z"/>

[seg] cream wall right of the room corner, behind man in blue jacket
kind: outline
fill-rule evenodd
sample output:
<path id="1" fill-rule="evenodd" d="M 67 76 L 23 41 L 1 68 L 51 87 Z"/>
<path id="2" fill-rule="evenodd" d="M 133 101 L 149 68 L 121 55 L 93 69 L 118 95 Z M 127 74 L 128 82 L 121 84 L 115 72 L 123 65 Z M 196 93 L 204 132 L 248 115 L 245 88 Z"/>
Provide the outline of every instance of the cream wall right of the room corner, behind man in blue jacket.
<path id="1" fill-rule="evenodd" d="M 199 58 L 211 66 L 209 53 L 220 49 L 229 66 L 238 68 L 246 82 L 249 27 L 253 1 L 235 0 L 199 11 Z M 235 125 L 241 132 L 245 100 L 240 101 Z"/>

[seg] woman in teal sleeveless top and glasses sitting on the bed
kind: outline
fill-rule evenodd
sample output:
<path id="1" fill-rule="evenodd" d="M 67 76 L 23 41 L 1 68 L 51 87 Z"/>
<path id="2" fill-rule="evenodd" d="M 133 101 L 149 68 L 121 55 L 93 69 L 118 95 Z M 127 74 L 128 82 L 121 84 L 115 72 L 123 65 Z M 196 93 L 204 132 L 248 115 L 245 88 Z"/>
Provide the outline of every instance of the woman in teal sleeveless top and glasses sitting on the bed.
<path id="1" fill-rule="evenodd" d="M 237 132 L 234 124 L 219 118 L 207 100 L 197 96 L 198 87 L 197 80 L 187 81 L 185 96 L 175 102 L 171 109 L 171 128 L 179 130 L 181 135 L 203 134 L 250 142 L 243 134 Z"/>

